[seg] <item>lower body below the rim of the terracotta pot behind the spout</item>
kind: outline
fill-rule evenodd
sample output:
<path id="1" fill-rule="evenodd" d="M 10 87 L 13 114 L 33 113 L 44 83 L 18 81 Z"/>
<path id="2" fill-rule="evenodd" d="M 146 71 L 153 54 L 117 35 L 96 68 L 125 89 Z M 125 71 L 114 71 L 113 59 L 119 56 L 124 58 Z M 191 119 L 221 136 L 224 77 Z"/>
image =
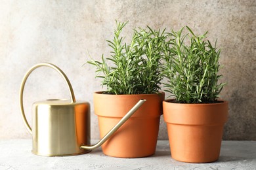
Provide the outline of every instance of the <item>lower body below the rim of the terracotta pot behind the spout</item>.
<path id="1" fill-rule="evenodd" d="M 116 124 L 119 118 L 98 116 L 100 136 Z M 106 143 L 102 152 L 117 158 L 141 158 L 151 156 L 156 151 L 160 116 L 156 118 L 131 118 Z M 150 134 L 149 134 L 150 133 Z"/>

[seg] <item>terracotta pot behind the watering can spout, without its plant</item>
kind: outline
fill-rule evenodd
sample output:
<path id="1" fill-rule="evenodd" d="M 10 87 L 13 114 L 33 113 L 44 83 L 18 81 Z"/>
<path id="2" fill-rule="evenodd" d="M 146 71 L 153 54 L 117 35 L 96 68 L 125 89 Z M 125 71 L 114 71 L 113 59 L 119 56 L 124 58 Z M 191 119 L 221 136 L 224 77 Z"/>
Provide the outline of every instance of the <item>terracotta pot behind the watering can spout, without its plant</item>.
<path id="1" fill-rule="evenodd" d="M 135 114 L 102 144 L 103 153 L 119 158 L 139 158 L 154 154 L 164 96 L 163 92 L 141 95 L 94 93 L 100 137 L 104 137 L 140 99 L 146 99 Z"/>

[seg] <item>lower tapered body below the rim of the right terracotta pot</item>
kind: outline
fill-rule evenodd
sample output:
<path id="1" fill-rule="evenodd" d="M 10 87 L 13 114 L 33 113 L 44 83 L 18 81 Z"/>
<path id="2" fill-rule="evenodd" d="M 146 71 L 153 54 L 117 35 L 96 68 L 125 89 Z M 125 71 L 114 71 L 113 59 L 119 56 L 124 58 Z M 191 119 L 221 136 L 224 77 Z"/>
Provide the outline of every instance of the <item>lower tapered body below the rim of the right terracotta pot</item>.
<path id="1" fill-rule="evenodd" d="M 190 163 L 207 163 L 219 159 L 223 126 L 168 124 L 167 128 L 173 159 Z"/>

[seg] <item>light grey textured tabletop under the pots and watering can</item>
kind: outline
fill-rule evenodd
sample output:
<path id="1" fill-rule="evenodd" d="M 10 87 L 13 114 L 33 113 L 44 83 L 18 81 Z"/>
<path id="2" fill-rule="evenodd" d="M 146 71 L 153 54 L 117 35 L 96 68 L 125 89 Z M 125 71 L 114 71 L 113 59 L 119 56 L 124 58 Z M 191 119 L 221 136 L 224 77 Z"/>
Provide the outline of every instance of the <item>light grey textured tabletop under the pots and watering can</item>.
<path id="1" fill-rule="evenodd" d="M 133 159 L 105 156 L 100 148 L 66 157 L 35 156 L 31 149 L 31 139 L 1 139 L 0 169 L 256 169 L 256 141 L 223 141 L 221 156 L 213 163 L 175 161 L 168 141 L 158 141 L 153 156 Z"/>

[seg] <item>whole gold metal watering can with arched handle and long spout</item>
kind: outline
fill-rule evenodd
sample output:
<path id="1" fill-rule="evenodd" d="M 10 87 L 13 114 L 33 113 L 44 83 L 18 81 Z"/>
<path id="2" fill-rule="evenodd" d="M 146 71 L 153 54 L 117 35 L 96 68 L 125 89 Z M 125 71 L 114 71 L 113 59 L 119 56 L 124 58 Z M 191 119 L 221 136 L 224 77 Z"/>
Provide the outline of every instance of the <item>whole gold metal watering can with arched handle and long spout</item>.
<path id="1" fill-rule="evenodd" d="M 64 78 L 70 90 L 71 100 L 49 99 L 33 103 L 31 127 L 24 113 L 23 91 L 30 73 L 42 66 L 51 67 Z M 98 143 L 91 146 L 90 104 L 75 101 L 68 77 L 56 65 L 34 65 L 24 76 L 20 87 L 20 110 L 24 124 L 33 137 L 32 152 L 41 156 L 68 156 L 90 152 L 108 140 L 145 101 L 141 99 Z"/>

